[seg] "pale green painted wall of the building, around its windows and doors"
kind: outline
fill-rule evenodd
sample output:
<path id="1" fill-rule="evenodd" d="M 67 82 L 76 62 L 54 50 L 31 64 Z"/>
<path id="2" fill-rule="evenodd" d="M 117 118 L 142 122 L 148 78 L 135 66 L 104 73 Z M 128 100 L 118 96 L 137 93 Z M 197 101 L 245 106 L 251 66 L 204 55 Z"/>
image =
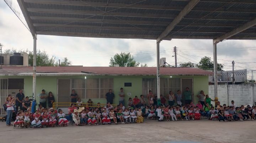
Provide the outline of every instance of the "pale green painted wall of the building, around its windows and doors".
<path id="1" fill-rule="evenodd" d="M 25 96 L 32 96 L 32 76 L 5 76 L 1 78 L 24 78 L 24 94 Z M 53 92 L 55 99 L 57 100 L 57 79 L 73 79 L 73 78 L 84 78 L 84 76 L 37 76 L 37 88 L 36 88 L 36 99 L 39 103 L 39 97 L 37 96 L 41 93 L 42 89 L 46 90 L 48 94 L 49 91 Z M 87 78 L 113 78 L 114 88 L 113 92 L 115 94 L 114 104 L 119 102 L 119 91 L 120 88 L 124 88 L 125 105 L 128 103 L 129 97 L 134 98 L 134 96 L 140 96 L 142 94 L 142 79 L 143 78 L 155 78 L 155 76 L 87 76 Z M 170 76 L 161 76 L 161 78 L 170 78 Z M 203 90 L 205 94 L 208 94 L 208 76 L 172 76 L 172 78 L 192 78 L 193 79 L 193 92 L 194 92 L 194 103 L 197 103 L 198 98 L 196 97 L 198 93 Z M 124 87 L 124 82 L 131 82 L 132 87 Z M 182 91 L 184 91 L 182 89 Z M 132 96 L 128 96 L 127 93 L 130 92 Z M 167 94 L 167 93 L 166 93 Z M 87 102 L 88 99 L 82 99 L 83 102 Z M 92 99 L 94 103 L 100 102 L 102 104 L 106 103 L 106 99 Z"/>

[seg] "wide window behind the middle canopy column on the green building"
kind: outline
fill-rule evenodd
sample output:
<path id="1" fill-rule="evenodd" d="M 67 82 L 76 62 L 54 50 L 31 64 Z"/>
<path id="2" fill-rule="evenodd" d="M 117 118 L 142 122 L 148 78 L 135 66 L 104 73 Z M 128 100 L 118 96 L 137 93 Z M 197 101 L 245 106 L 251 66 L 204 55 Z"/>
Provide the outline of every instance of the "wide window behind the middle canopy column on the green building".
<path id="1" fill-rule="evenodd" d="M 154 95 L 157 93 L 157 83 L 156 79 L 142 79 L 143 84 L 143 95 L 148 95 L 149 90 L 151 90 Z M 180 79 L 175 78 L 161 78 L 160 79 L 160 94 L 161 95 L 167 95 L 169 91 L 173 91 L 174 93 L 177 92 L 177 90 L 180 90 L 181 88 L 181 81 Z"/>

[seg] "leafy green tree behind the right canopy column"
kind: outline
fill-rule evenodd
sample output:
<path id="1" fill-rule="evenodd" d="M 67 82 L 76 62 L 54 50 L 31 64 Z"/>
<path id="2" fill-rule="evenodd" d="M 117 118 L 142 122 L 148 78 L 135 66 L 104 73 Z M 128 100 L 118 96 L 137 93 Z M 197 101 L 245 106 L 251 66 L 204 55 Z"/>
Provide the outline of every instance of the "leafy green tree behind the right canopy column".
<path id="1" fill-rule="evenodd" d="M 203 57 L 199 64 L 196 65 L 199 69 L 204 69 L 204 70 L 213 70 L 214 64 L 213 61 L 211 61 L 210 57 Z M 218 64 L 217 63 L 217 70 L 222 71 L 223 69 L 223 64 Z"/>

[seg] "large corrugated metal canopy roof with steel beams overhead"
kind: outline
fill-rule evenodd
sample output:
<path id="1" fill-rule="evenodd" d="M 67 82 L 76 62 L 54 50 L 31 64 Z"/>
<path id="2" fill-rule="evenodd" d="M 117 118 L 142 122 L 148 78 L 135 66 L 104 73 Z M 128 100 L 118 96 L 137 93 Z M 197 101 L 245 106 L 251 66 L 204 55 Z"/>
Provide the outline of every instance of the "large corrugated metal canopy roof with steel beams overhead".
<path id="1" fill-rule="evenodd" d="M 138 39 L 256 39 L 256 0 L 18 0 L 31 33 Z"/>

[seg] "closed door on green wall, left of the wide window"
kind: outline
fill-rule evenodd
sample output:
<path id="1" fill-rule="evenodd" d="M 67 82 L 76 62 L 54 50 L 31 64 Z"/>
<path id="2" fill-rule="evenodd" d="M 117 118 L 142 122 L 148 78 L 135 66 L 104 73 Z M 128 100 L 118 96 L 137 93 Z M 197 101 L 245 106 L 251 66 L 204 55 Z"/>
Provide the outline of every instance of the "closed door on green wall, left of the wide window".
<path id="1" fill-rule="evenodd" d="M 70 102 L 71 79 L 58 79 L 58 102 Z"/>

